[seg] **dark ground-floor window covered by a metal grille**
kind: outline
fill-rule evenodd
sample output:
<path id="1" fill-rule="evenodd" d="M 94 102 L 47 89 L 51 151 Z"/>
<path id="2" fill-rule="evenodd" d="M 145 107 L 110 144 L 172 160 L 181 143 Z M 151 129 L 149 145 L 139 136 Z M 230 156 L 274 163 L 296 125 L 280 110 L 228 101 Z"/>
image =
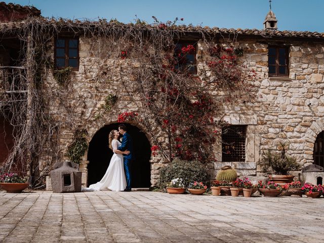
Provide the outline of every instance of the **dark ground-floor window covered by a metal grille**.
<path id="1" fill-rule="evenodd" d="M 229 126 L 222 130 L 222 161 L 245 161 L 246 126 Z"/>

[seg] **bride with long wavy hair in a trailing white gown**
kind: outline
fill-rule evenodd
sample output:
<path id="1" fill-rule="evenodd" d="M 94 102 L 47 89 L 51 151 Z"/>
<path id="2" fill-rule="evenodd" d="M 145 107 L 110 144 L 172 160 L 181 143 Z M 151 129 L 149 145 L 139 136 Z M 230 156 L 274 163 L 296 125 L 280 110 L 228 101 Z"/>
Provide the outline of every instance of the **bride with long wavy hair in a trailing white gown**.
<path id="1" fill-rule="evenodd" d="M 109 148 L 113 151 L 110 159 L 110 164 L 101 181 L 92 184 L 89 187 L 82 188 L 83 191 L 100 191 L 109 189 L 112 191 L 124 191 L 127 183 L 124 171 L 124 157 L 123 154 L 129 154 L 130 151 L 120 151 L 118 147 L 121 143 L 118 141 L 119 132 L 112 130 L 109 133 Z"/>

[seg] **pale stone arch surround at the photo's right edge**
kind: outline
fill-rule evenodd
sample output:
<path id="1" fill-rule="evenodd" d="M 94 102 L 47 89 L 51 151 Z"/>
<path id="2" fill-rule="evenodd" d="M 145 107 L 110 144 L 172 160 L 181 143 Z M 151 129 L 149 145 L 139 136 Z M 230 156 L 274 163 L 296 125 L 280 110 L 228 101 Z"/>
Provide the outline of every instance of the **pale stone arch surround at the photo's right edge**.
<path id="1" fill-rule="evenodd" d="M 314 143 L 316 141 L 317 135 L 322 131 L 324 131 L 324 117 L 321 117 L 318 120 L 314 121 L 305 133 L 305 166 L 314 163 Z"/>

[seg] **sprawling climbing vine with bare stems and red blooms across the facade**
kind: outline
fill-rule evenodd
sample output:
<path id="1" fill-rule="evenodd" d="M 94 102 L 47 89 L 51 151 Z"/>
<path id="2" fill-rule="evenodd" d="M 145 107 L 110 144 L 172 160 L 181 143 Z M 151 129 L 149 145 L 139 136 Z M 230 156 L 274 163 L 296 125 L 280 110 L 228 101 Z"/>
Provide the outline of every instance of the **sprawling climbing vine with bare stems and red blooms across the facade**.
<path id="1" fill-rule="evenodd" d="M 4 170 L 19 164 L 34 187 L 42 186 L 53 163 L 64 156 L 78 163 L 86 152 L 86 135 L 78 131 L 106 122 L 113 113 L 120 122 L 141 124 L 152 138 L 154 156 L 170 161 L 175 157 L 213 159 L 212 144 L 225 124 L 224 104 L 253 100 L 255 72 L 242 60 L 244 49 L 236 35 L 179 26 L 177 21 L 155 19 L 147 24 L 138 19 L 123 24 L 31 17 L 15 24 L 1 23 L 1 36 L 19 37 L 21 63 L 16 71 L 24 72 L 15 76 L 21 79 L 17 84 L 24 92 L 8 96 L 7 91 L 17 89 L 9 87 L 0 95 L 1 104 L 6 104 L 0 111 L 14 126 L 14 146 Z M 88 50 L 80 57 L 78 74 L 70 68 L 54 71 L 47 65 L 55 62 L 55 37 L 67 32 L 89 42 L 82 44 Z M 188 35 L 192 44 L 177 48 Z M 193 53 L 201 64 L 198 75 L 191 73 L 194 64 L 185 65 Z M 3 76 L 8 82 L 12 78 L 5 71 Z M 123 88 L 107 80 L 118 80 Z M 113 109 L 116 102 L 125 102 L 119 115 Z M 68 147 L 62 131 L 73 136 Z M 154 136 L 156 131 L 166 139 Z M 39 160 L 47 161 L 44 168 L 39 168 Z"/>

